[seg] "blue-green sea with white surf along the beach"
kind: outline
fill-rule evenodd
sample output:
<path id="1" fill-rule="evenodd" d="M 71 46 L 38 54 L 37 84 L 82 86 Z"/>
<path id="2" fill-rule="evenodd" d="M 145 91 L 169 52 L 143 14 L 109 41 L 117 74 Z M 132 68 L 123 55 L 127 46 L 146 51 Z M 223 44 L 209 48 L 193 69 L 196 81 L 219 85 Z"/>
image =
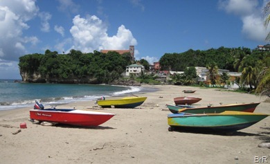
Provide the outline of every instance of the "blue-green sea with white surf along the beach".
<path id="1" fill-rule="evenodd" d="M 102 96 L 106 98 L 152 91 L 156 89 L 107 84 L 23 83 L 21 80 L 0 79 L 0 111 L 33 107 L 35 100 L 45 106 L 57 106 L 70 102 L 93 101 Z"/>

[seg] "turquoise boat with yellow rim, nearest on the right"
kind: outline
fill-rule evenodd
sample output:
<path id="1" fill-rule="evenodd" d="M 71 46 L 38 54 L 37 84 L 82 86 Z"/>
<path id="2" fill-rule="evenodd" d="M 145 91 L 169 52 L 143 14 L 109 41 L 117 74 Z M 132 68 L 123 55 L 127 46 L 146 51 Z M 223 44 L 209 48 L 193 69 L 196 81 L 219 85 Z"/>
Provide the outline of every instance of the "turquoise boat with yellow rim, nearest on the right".
<path id="1" fill-rule="evenodd" d="M 168 115 L 169 131 L 175 129 L 237 131 L 267 118 L 268 114 L 243 111 L 224 111 L 222 113 L 177 113 Z"/>

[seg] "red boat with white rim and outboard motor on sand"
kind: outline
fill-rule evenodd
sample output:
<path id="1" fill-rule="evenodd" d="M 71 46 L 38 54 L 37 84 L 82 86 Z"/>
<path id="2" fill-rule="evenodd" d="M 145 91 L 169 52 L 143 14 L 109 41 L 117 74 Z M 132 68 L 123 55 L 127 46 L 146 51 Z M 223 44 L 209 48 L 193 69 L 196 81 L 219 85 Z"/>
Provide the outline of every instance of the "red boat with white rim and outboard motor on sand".
<path id="1" fill-rule="evenodd" d="M 96 127 L 115 116 L 114 113 L 98 111 L 84 111 L 77 109 L 55 109 L 39 107 L 35 104 L 34 109 L 30 109 L 30 119 L 47 122 L 57 122 L 66 125 L 82 127 Z"/>

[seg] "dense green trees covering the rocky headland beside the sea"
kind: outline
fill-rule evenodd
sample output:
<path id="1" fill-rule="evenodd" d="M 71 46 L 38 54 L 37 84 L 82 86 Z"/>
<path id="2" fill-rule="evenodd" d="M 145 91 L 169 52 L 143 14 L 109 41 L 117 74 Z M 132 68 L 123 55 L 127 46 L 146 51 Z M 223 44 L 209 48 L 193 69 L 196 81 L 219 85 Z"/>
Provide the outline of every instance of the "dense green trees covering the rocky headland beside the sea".
<path id="1" fill-rule="evenodd" d="M 109 83 L 121 77 L 125 67 L 132 64 L 130 59 L 129 53 L 119 55 L 116 52 L 104 54 L 98 51 L 82 53 L 71 50 L 67 54 L 58 54 L 46 50 L 45 54 L 19 57 L 19 70 L 21 75 L 39 75 L 39 82 L 91 79 L 92 83 Z"/>

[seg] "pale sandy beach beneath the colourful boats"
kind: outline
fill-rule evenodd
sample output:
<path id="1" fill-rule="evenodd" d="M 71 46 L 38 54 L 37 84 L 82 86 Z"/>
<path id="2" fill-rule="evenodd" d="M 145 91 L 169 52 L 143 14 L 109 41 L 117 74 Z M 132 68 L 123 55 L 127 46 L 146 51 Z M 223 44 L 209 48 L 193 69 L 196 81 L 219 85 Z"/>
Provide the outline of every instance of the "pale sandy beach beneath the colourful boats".
<path id="1" fill-rule="evenodd" d="M 231 135 L 168 131 L 170 111 L 165 106 L 174 104 L 175 97 L 190 95 L 202 98 L 198 106 L 261 102 L 255 112 L 270 114 L 265 97 L 191 86 L 147 87 L 159 91 L 140 93 L 147 100 L 136 109 L 101 109 L 94 101 L 57 106 L 116 113 L 96 128 L 33 124 L 29 108 L 0 111 L 0 163 L 246 164 L 262 157 L 270 163 L 270 149 L 258 147 L 270 143 L 270 117 Z M 184 89 L 196 92 L 185 94 Z M 27 128 L 12 134 L 22 122 Z"/>

